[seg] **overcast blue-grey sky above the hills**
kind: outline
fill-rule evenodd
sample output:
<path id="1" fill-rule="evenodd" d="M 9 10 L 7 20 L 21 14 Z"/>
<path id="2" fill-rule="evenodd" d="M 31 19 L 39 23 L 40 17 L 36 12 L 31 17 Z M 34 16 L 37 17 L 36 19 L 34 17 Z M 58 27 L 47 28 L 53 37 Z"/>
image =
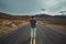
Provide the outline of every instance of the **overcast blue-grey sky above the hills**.
<path id="1" fill-rule="evenodd" d="M 42 11 L 41 9 L 46 9 Z M 66 11 L 66 0 L 0 0 L 0 12 L 11 14 L 56 14 Z"/>

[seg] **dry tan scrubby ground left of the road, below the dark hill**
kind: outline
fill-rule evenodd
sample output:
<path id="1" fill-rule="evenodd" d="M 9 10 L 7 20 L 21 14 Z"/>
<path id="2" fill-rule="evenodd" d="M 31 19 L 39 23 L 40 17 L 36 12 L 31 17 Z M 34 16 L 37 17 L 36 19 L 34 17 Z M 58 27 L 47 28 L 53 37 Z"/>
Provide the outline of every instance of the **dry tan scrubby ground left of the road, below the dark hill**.
<path id="1" fill-rule="evenodd" d="M 19 26 L 26 24 L 26 20 L 4 20 L 0 19 L 0 36 L 15 31 Z"/>

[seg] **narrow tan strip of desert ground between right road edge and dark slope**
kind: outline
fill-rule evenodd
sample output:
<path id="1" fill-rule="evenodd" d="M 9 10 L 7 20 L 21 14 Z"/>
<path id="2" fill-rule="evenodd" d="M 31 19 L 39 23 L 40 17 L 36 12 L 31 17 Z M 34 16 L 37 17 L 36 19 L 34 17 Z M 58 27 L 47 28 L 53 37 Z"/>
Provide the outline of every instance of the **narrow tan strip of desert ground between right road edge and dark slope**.
<path id="1" fill-rule="evenodd" d="M 47 20 L 40 20 L 40 22 L 41 22 L 41 24 L 46 25 L 48 28 L 66 32 L 66 25 L 65 24 L 56 24 L 56 23 L 52 23 Z"/>

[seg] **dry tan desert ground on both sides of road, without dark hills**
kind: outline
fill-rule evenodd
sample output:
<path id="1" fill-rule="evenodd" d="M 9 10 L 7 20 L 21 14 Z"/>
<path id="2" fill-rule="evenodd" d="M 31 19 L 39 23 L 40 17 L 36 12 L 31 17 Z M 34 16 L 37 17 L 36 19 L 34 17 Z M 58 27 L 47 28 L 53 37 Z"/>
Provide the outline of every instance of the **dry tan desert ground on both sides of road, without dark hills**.
<path id="1" fill-rule="evenodd" d="M 24 20 L 4 20 L 4 19 L 0 19 L 0 36 L 8 34 L 12 31 L 15 31 L 18 28 L 30 23 L 29 22 L 30 19 L 24 19 Z M 66 32 L 66 25 L 62 25 L 62 24 L 53 24 L 50 21 L 46 20 L 41 20 L 41 19 L 36 19 L 37 23 L 46 25 L 48 28 L 55 29 L 55 30 L 61 30 Z"/>

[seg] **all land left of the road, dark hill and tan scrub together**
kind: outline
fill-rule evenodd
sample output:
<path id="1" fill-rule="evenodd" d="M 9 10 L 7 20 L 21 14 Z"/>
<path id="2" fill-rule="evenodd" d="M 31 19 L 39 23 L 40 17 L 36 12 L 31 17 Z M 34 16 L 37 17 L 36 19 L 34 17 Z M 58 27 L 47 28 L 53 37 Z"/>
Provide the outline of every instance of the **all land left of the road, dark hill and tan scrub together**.
<path id="1" fill-rule="evenodd" d="M 8 34 L 29 22 L 29 16 L 0 13 L 0 36 Z"/>

